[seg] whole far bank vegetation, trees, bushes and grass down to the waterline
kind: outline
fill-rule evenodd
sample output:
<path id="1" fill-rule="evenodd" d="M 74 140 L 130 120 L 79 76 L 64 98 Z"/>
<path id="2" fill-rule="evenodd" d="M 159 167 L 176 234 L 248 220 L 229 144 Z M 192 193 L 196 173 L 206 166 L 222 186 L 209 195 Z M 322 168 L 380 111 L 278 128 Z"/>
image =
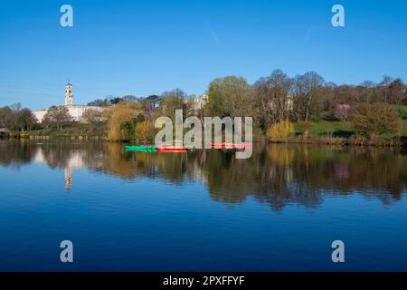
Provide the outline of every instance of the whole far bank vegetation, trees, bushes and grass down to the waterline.
<path id="1" fill-rule="evenodd" d="M 29 109 L 13 105 L 0 109 L 0 130 L 19 137 L 80 137 L 151 143 L 157 117 L 253 117 L 259 139 L 271 142 L 399 145 L 407 136 L 407 91 L 401 79 L 383 77 L 357 85 L 326 82 L 310 72 L 289 77 L 275 70 L 253 84 L 237 76 L 210 82 L 204 97 L 180 89 L 160 95 L 110 97 L 90 105 L 80 122 L 69 112 L 52 107 L 42 123 Z M 256 138 L 255 138 L 256 139 Z"/>

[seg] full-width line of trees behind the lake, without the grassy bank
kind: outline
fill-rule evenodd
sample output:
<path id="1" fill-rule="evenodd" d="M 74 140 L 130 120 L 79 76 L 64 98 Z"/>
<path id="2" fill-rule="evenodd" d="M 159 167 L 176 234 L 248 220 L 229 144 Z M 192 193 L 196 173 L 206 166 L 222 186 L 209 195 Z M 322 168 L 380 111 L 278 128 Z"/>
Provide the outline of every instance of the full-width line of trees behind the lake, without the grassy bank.
<path id="1" fill-rule="evenodd" d="M 87 111 L 83 120 L 106 121 L 108 135 L 113 139 L 130 138 L 137 122 L 145 122 L 145 129 L 139 128 L 138 131 L 150 130 L 151 122 L 156 117 L 166 115 L 174 118 L 178 109 L 182 109 L 185 116 L 197 115 L 201 118 L 251 116 L 255 126 L 263 131 L 283 121 L 347 121 L 351 118 L 361 123 L 355 126 L 361 131 L 372 131 L 373 126 L 383 126 L 377 121 L 378 118 L 390 121 L 392 124 L 387 124 L 387 127 L 390 126 L 391 131 L 394 126 L 400 125 L 396 124 L 400 120 L 397 120 L 398 116 L 394 117 L 397 115 L 394 107 L 407 103 L 406 84 L 400 78 L 384 76 L 377 83 L 365 81 L 358 85 L 338 85 L 326 82 L 315 72 L 289 77 L 281 70 L 275 70 L 252 84 L 237 76 L 218 78 L 210 82 L 206 95 L 208 102 L 198 108 L 193 103 L 196 96 L 180 89 L 148 97 L 107 97 L 88 103 L 106 107 L 107 112 L 103 116 L 98 111 Z M 64 106 L 50 108 L 40 125 L 29 109 L 22 109 L 21 106 L 0 108 L 0 128 L 9 130 L 29 131 L 38 126 L 62 128 L 64 123 L 70 121 L 71 117 Z"/>

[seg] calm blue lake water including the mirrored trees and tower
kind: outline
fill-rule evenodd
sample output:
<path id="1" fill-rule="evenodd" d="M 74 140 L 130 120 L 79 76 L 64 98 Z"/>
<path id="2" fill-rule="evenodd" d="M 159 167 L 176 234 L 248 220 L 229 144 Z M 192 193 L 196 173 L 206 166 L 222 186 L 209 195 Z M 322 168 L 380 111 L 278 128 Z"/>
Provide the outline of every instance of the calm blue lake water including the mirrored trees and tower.
<path id="1" fill-rule="evenodd" d="M 407 270 L 402 149 L 123 148 L 0 140 L 0 270 Z"/>

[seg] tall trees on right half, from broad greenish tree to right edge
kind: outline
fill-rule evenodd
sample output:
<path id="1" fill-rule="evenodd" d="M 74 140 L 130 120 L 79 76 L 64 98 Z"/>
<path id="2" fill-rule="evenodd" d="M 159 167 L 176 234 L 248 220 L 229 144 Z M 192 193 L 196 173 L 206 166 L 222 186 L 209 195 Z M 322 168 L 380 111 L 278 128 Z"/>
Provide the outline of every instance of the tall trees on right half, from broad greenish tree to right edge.
<path id="1" fill-rule="evenodd" d="M 345 120 L 348 110 L 361 103 L 406 102 L 401 79 L 360 85 L 336 85 L 310 72 L 289 78 L 281 70 L 262 77 L 253 85 L 235 76 L 216 79 L 209 85 L 209 115 L 253 116 L 262 129 L 280 121 L 312 121 L 318 118 Z"/>

